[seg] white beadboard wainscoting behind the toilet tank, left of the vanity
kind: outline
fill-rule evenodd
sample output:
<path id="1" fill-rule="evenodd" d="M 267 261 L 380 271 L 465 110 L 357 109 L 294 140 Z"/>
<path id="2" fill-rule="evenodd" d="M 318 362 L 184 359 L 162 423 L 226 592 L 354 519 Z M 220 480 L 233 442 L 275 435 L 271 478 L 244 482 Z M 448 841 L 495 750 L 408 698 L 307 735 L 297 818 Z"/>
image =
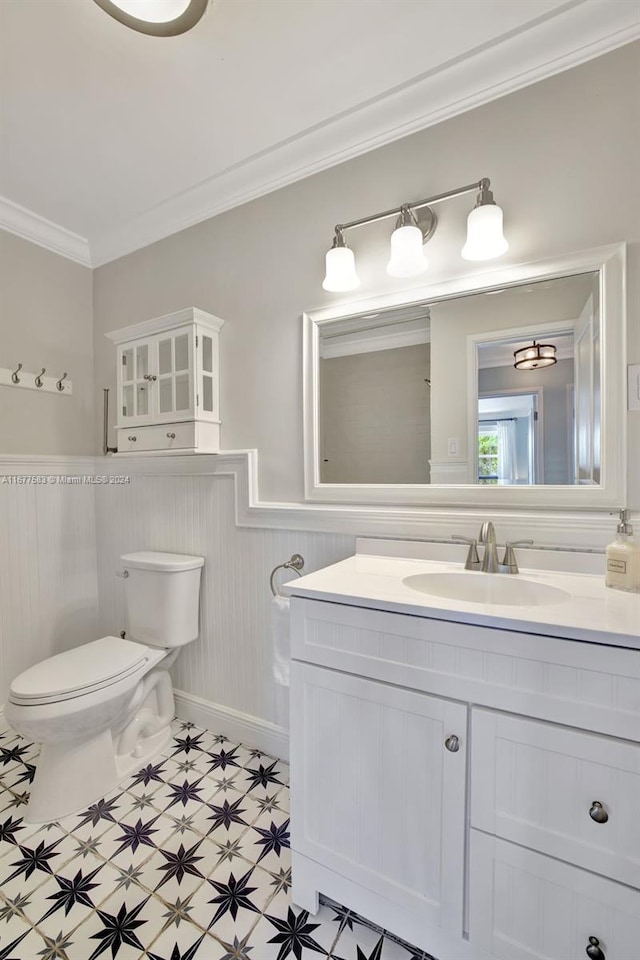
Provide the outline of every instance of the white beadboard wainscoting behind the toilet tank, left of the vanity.
<path id="1" fill-rule="evenodd" d="M 120 463 L 122 473 L 127 466 Z M 308 571 L 334 563 L 354 553 L 354 538 L 237 526 L 229 475 L 132 473 L 128 484 L 101 487 L 96 509 L 102 634 L 124 628 L 124 582 L 115 576 L 121 554 L 166 550 L 203 556 L 200 637 L 181 652 L 174 685 L 275 722 L 271 570 L 293 553 L 302 554 Z"/>

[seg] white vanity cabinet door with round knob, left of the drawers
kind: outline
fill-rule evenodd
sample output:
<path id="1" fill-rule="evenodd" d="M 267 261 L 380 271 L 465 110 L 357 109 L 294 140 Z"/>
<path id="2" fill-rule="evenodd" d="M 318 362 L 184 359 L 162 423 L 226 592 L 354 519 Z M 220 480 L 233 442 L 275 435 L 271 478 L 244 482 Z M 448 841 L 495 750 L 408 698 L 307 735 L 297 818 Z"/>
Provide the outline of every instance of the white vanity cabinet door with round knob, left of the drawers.
<path id="1" fill-rule="evenodd" d="M 466 706 L 296 661 L 291 694 L 292 849 L 460 932 Z"/>

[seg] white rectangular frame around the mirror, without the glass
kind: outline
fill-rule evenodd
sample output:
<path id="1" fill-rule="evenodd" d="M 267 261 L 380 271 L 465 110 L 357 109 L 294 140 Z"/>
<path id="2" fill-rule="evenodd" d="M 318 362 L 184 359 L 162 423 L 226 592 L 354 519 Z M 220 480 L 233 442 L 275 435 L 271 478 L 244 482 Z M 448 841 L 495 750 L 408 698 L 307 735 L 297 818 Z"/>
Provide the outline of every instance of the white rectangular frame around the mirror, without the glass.
<path id="1" fill-rule="evenodd" d="M 626 246 L 597 247 L 566 257 L 516 264 L 443 283 L 304 313 L 304 465 L 307 500 L 343 504 L 598 510 L 626 503 Z M 427 300 L 486 292 L 536 280 L 600 271 L 602 335 L 601 476 L 598 486 L 321 483 L 319 436 L 320 332 L 326 324 Z M 476 388 L 477 392 L 477 388 Z"/>

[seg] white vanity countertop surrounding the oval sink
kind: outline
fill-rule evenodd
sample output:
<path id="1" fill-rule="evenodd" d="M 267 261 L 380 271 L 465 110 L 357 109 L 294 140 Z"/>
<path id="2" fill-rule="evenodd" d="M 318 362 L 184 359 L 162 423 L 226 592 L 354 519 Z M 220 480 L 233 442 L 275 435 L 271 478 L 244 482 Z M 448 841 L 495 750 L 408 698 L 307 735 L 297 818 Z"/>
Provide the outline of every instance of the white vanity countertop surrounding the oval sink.
<path id="1" fill-rule="evenodd" d="M 520 562 L 525 563 L 524 556 Z M 519 574 L 500 574 L 561 587 L 570 594 L 566 601 L 541 606 L 448 600 L 402 582 L 415 574 L 463 569 L 462 563 L 359 554 L 289 582 L 287 589 L 295 597 L 640 650 L 640 594 L 608 589 L 603 576 L 526 567 Z"/>

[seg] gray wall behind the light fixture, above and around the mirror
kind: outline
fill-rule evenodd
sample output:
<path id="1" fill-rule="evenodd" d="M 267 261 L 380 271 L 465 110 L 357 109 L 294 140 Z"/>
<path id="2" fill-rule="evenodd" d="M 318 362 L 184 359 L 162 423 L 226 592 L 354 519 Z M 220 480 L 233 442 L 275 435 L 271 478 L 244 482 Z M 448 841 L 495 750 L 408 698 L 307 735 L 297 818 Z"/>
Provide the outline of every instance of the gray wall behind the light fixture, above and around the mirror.
<path id="1" fill-rule="evenodd" d="M 511 245 L 502 262 L 626 240 L 635 304 L 639 83 L 640 44 L 631 44 L 100 267 L 97 395 L 115 379 L 106 331 L 189 304 L 224 317 L 223 445 L 259 449 L 263 499 L 303 499 L 300 315 L 341 299 L 321 289 L 333 224 L 488 175 Z M 429 245 L 434 281 L 483 269 L 459 256 L 469 203 L 439 207 Z M 354 234 L 359 296 L 412 285 L 386 277 L 388 237 L 388 224 Z M 638 360 L 640 332 L 631 326 L 629 359 Z M 633 477 L 640 471 L 637 414 L 632 426 Z M 99 436 L 97 416 L 96 448 Z M 630 506 L 640 508 L 637 484 Z"/>

